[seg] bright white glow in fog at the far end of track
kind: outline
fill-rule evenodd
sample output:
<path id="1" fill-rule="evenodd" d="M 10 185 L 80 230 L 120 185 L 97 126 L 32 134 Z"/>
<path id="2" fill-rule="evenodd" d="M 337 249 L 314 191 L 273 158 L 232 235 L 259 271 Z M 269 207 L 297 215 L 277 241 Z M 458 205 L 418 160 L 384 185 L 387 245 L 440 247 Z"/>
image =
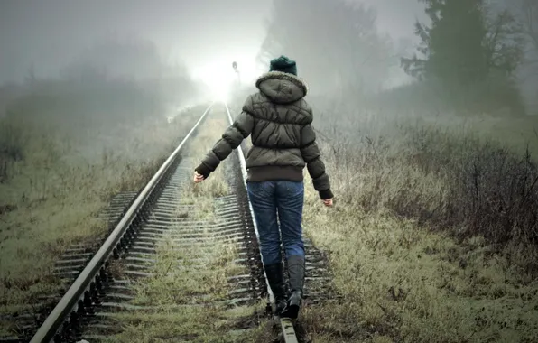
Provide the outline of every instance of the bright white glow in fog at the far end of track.
<path id="1" fill-rule="evenodd" d="M 232 62 L 237 61 L 239 75 L 232 68 Z M 234 88 L 237 88 L 238 77 L 241 84 L 251 84 L 260 75 L 260 70 L 256 70 L 255 60 L 247 58 L 234 59 L 233 56 L 226 59 L 218 59 L 216 62 L 206 64 L 201 68 L 192 70 L 194 79 L 204 82 L 211 96 L 217 100 L 227 100 Z"/>

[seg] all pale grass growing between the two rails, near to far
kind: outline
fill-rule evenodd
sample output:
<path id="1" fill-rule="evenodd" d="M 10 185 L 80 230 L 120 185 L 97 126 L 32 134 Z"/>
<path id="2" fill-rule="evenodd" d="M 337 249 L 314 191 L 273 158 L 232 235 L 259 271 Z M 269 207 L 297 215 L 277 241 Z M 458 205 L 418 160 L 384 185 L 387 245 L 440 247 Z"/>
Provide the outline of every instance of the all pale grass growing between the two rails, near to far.
<path id="1" fill-rule="evenodd" d="M 216 110 L 214 110 L 217 112 Z M 227 127 L 224 119 L 215 113 L 200 129 L 197 137 L 186 147 L 192 156 L 192 167 L 213 146 Z M 189 159 L 189 158 L 187 158 Z M 181 204 L 196 205 L 194 211 L 181 213 L 181 218 L 198 218 L 217 221 L 214 199 L 229 192 L 223 162 L 208 180 L 191 183 L 179 192 Z M 203 243 L 203 244 L 202 244 Z M 138 283 L 135 304 L 151 304 L 159 308 L 151 312 L 119 315 L 116 320 L 124 331 L 110 338 L 114 342 L 266 342 L 273 334 L 266 321 L 260 326 L 260 312 L 264 303 L 237 306 L 232 309 L 227 292 L 233 287 L 230 276 L 248 273 L 245 266 L 237 264 L 236 247 L 207 237 L 191 246 L 173 250 L 175 242 L 167 237 L 158 248 L 157 264 L 153 277 Z M 247 331 L 238 329 L 249 328 Z M 256 340 L 257 339 L 257 340 Z"/>

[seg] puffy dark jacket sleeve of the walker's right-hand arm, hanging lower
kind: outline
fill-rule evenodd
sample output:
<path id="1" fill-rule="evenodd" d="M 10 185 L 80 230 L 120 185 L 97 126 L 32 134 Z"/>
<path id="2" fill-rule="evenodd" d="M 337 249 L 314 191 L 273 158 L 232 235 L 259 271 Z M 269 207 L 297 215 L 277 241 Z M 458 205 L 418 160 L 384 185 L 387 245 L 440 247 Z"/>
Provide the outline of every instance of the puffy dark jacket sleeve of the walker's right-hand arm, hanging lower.
<path id="1" fill-rule="evenodd" d="M 329 175 L 325 172 L 325 164 L 321 161 L 321 153 L 316 143 L 316 134 L 311 124 L 301 129 L 301 155 L 309 174 L 311 175 L 314 190 L 320 193 L 321 199 L 331 199 Z"/>

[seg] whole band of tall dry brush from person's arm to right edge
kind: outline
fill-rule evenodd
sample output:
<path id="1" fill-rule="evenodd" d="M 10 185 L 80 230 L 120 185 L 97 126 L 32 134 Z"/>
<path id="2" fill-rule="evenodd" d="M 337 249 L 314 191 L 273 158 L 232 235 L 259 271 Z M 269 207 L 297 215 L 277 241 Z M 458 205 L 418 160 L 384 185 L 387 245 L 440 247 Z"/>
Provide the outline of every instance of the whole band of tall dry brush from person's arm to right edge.
<path id="1" fill-rule="evenodd" d="M 388 209 L 460 238 L 537 243 L 538 170 L 528 149 L 517 155 L 505 144 L 440 125 L 374 126 L 357 118 L 320 128 L 332 172 L 342 180 L 340 201 Z"/>

